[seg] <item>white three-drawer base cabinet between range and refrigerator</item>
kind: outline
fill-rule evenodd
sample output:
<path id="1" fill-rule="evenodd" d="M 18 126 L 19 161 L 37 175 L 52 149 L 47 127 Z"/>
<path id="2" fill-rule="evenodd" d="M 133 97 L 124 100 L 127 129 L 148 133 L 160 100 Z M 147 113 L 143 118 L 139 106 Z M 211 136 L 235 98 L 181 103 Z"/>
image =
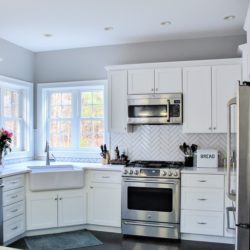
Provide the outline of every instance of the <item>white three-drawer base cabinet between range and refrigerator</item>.
<path id="1" fill-rule="evenodd" d="M 224 175 L 182 174 L 181 233 L 224 235 Z"/>

